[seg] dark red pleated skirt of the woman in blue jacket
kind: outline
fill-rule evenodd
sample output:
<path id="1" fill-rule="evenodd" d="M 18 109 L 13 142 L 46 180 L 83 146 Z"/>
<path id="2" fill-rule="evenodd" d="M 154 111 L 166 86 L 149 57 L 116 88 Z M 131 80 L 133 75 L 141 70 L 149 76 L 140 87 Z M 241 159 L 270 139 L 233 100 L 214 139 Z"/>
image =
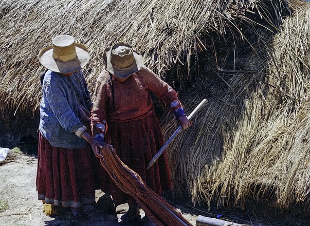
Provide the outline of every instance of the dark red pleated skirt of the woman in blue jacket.
<path id="1" fill-rule="evenodd" d="M 99 170 L 96 168 L 99 165 L 99 160 L 88 145 L 76 149 L 53 147 L 39 134 L 39 200 L 74 208 L 83 204 L 94 204 L 96 186 L 102 182 L 100 178 L 97 178 L 97 181 L 95 178 L 95 174 L 98 176 L 98 171 L 103 170 L 101 167 Z"/>

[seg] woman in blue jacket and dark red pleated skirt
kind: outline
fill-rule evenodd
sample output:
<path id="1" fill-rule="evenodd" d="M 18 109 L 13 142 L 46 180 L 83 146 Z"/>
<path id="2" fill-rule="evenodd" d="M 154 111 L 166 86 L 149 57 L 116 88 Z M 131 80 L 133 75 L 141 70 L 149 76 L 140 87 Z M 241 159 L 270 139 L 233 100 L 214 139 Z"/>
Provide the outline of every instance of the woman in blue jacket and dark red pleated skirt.
<path id="1" fill-rule="evenodd" d="M 59 35 L 40 51 L 39 60 L 48 70 L 40 104 L 38 198 L 70 207 L 84 219 L 88 216 L 81 206 L 95 203 L 94 163 L 99 161 L 94 156 L 100 157 L 101 148 L 86 127 L 93 103 L 81 69 L 89 53 L 72 36 Z"/>

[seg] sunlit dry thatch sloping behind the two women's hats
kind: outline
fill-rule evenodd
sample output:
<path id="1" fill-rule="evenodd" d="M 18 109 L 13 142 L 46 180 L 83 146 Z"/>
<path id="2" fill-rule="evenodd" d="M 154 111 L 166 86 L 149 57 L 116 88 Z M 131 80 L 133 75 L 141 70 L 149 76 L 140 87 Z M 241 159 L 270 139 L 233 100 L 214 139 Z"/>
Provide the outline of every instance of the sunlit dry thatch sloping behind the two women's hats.
<path id="1" fill-rule="evenodd" d="M 268 4 L 279 11 L 283 2 Z M 93 90 L 103 68 L 103 50 L 115 41 L 133 44 L 144 54 L 145 65 L 162 75 L 177 62 L 189 64 L 189 56 L 197 48 L 205 48 L 200 38 L 207 32 L 225 35 L 230 28 L 239 29 L 240 23 L 256 24 L 245 16 L 254 8 L 261 16 L 270 16 L 265 13 L 268 10 L 263 0 L 2 1 L 2 117 L 16 110 L 33 114 L 38 109 L 39 76 L 44 69 L 39 65 L 37 54 L 56 35 L 72 35 L 90 49 L 92 60 L 84 72 Z"/>

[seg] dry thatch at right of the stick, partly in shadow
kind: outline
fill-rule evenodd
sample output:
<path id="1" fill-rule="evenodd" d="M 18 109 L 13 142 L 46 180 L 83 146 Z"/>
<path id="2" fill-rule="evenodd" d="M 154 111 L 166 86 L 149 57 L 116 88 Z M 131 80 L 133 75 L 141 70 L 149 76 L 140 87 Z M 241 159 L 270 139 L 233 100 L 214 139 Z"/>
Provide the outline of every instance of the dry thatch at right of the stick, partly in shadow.
<path id="1" fill-rule="evenodd" d="M 234 73 L 227 92 L 210 99 L 170 147 L 174 184 L 185 180 L 194 202 L 263 197 L 288 209 L 309 201 L 310 4 L 290 6 L 294 15 L 271 48 L 262 44 L 270 36 L 262 36 L 245 72 Z M 195 90 L 187 105 L 199 95 Z"/>

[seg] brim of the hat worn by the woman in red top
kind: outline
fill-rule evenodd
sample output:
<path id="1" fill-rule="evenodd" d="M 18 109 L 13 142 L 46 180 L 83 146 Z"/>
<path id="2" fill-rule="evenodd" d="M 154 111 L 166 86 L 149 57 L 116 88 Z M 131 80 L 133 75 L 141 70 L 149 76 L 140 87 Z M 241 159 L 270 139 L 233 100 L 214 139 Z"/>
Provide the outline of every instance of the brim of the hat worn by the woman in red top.
<path id="1" fill-rule="evenodd" d="M 140 70 L 141 65 L 142 65 L 142 58 L 143 58 L 142 55 L 140 55 L 139 53 L 135 51 L 133 51 L 133 54 L 134 54 L 135 60 L 132 66 L 127 67 L 125 69 L 120 69 L 120 68 L 113 67 L 113 65 L 111 64 L 111 48 L 108 48 L 105 51 L 105 56 L 104 56 L 106 70 L 119 78 L 129 77 L 134 72 Z"/>

